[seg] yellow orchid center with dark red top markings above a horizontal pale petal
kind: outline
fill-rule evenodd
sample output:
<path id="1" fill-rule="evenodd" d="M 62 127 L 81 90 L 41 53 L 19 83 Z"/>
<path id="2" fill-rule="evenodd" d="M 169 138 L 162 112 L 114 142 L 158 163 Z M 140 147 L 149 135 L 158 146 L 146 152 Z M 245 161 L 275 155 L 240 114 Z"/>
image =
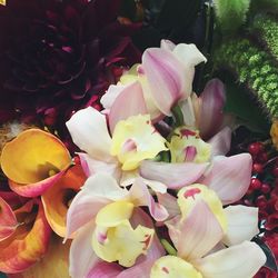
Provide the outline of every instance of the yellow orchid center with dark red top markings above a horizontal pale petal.
<path id="1" fill-rule="evenodd" d="M 201 140 L 198 130 L 186 127 L 175 130 L 168 145 L 171 162 L 207 162 L 210 159 L 211 146 Z"/>

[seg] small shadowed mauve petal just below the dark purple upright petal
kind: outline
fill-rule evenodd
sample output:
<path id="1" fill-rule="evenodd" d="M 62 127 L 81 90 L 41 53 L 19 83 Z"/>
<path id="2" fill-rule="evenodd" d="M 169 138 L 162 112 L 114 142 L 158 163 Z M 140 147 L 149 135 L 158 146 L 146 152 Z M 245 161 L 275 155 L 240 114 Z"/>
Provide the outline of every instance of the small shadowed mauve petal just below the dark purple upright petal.
<path id="1" fill-rule="evenodd" d="M 230 150 L 230 142 L 231 129 L 225 127 L 208 141 L 211 145 L 211 157 L 227 155 Z"/>

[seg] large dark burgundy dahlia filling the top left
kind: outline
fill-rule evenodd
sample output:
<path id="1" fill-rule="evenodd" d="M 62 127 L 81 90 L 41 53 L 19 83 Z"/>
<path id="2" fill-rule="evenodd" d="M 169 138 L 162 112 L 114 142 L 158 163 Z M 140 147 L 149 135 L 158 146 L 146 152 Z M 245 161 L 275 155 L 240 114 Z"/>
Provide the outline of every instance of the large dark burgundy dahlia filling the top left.
<path id="1" fill-rule="evenodd" d="M 98 101 L 118 69 L 139 61 L 117 21 L 120 0 L 7 0 L 0 6 L 0 123 L 63 125 Z"/>

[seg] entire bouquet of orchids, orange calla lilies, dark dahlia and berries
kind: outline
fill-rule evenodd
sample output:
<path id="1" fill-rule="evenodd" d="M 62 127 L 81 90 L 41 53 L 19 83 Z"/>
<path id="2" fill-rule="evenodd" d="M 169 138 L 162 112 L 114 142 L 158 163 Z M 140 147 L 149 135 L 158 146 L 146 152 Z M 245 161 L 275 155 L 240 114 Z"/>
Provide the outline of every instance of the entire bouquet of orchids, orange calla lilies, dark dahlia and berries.
<path id="1" fill-rule="evenodd" d="M 214 7 L 201 3 L 191 12 L 207 19 L 202 52 L 198 40 L 173 43 L 165 36 L 140 56 L 128 36 L 142 38 L 158 7 L 153 26 L 166 30 L 161 18 L 170 1 L 162 8 L 135 2 L 133 17 L 129 1 L 27 2 L 0 9 L 8 26 L 18 14 L 13 39 L 24 46 L 0 46 L 18 57 L 0 62 L 7 69 L 0 271 L 10 278 L 277 277 L 276 101 L 252 88 L 254 75 L 235 81 L 244 63 L 228 73 L 232 50 L 251 43 L 235 30 L 241 18 L 230 29 L 234 44 L 216 30 L 221 46 L 209 51 Z M 228 30 L 221 4 L 215 1 L 214 17 Z M 167 27 L 173 30 L 173 22 Z M 38 37 L 30 42 L 18 27 Z M 31 51 L 34 42 L 43 44 L 39 52 Z M 232 89 L 245 86 L 271 117 L 272 141 L 267 116 L 267 125 L 244 117 L 254 115 L 255 100 L 248 113 L 234 108 Z M 241 91 L 237 106 L 246 99 Z"/>

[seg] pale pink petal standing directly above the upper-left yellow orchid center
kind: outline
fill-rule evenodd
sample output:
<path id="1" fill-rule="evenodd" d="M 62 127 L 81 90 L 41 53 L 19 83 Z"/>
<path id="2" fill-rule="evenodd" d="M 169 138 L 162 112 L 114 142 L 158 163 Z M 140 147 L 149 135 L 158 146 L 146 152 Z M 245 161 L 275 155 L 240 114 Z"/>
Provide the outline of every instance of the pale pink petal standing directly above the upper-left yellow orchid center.
<path id="1" fill-rule="evenodd" d="M 122 107 L 122 103 L 127 103 Z M 113 132 L 116 125 L 120 120 L 126 120 L 131 116 L 148 113 L 141 85 L 136 81 L 128 85 L 115 100 L 109 112 L 109 127 Z"/>

